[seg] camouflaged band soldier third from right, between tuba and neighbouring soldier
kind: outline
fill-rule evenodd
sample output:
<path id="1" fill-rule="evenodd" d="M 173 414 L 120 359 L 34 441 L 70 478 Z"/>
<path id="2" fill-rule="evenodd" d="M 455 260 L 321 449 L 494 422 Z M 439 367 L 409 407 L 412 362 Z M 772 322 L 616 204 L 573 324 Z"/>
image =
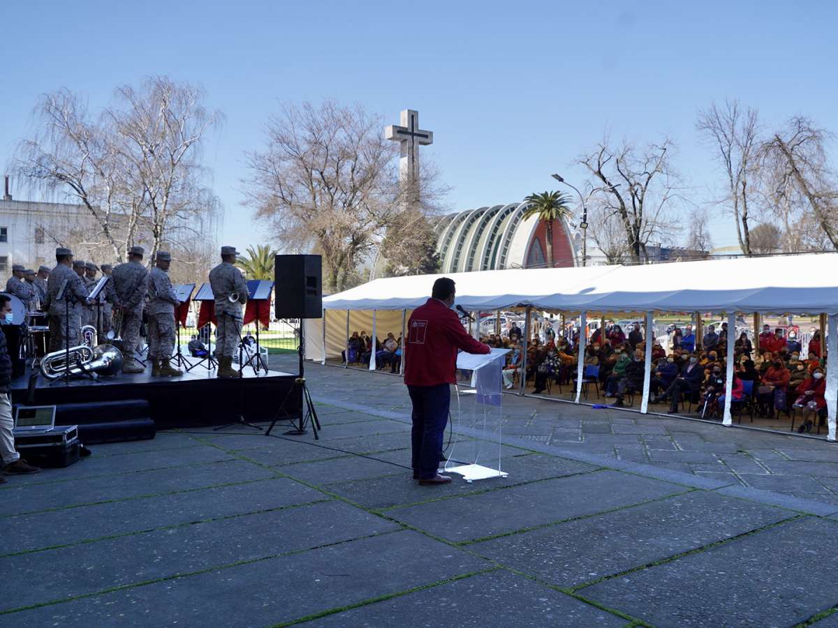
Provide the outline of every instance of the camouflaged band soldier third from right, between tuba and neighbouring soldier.
<path id="1" fill-rule="evenodd" d="M 122 308 L 122 373 L 142 373 L 145 370 L 134 355 L 147 292 L 148 271 L 142 265 L 145 253 L 142 246 L 132 246 L 128 251 L 128 261 L 113 269 L 116 300 Z"/>

